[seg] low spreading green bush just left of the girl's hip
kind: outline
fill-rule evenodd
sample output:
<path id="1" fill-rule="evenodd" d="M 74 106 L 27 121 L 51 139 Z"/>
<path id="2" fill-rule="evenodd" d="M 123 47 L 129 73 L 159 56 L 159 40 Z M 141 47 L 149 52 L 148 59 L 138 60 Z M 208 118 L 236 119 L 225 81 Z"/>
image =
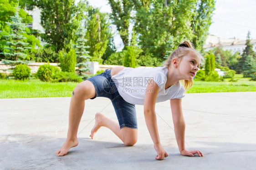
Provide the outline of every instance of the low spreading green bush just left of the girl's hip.
<path id="1" fill-rule="evenodd" d="M 52 76 L 52 82 L 82 82 L 82 78 L 79 77 L 76 73 L 71 72 L 57 72 Z"/>

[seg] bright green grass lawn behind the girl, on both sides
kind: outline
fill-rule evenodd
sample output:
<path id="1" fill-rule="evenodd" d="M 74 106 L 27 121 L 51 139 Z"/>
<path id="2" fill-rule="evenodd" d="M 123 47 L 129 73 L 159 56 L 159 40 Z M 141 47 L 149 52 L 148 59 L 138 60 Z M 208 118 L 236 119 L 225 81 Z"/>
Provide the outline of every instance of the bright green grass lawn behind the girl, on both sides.
<path id="1" fill-rule="evenodd" d="M 194 85 L 187 93 L 211 93 L 211 92 L 240 92 L 256 91 L 256 81 L 236 75 L 237 82 L 229 82 L 225 79 L 221 82 L 194 81 Z M 40 80 L 3 80 L 0 79 L 0 99 L 6 98 L 33 98 L 33 97 L 70 97 L 72 90 L 78 83 L 50 83 Z"/>

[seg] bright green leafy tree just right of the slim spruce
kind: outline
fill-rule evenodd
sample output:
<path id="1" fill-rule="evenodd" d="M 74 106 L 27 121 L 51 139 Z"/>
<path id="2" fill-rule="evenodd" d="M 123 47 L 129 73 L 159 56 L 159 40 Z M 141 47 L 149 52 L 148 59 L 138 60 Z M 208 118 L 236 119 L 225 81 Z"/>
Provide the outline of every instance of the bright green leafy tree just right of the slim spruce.
<path id="1" fill-rule="evenodd" d="M 89 55 L 92 56 L 91 60 L 102 64 L 102 55 L 108 48 L 108 39 L 113 36 L 108 22 L 108 15 L 101 13 L 98 8 L 90 7 L 86 29 L 86 37 L 88 38 L 86 45 L 90 47 L 88 50 L 90 52 Z"/>

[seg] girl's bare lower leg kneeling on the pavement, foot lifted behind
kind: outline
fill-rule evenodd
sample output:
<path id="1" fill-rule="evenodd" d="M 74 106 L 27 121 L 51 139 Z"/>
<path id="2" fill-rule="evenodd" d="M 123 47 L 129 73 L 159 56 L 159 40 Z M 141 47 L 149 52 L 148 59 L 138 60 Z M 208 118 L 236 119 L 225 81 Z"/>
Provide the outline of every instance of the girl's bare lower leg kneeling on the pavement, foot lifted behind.
<path id="1" fill-rule="evenodd" d="M 123 127 L 120 130 L 120 126 L 117 122 L 108 119 L 106 116 L 102 115 L 101 113 L 97 113 L 95 115 L 95 125 L 91 131 L 91 137 L 94 138 L 95 133 L 99 130 L 100 127 L 107 127 L 108 129 L 112 130 L 115 135 L 117 135 L 127 146 L 133 146 L 138 140 L 138 130 L 132 129 L 128 127 Z"/>

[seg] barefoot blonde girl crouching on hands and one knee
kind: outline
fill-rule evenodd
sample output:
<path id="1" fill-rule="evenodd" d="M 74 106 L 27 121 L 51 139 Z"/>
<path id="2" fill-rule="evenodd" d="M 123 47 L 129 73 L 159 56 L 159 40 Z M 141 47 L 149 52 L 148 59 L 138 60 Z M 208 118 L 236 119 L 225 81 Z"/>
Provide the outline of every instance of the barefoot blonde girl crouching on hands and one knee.
<path id="1" fill-rule="evenodd" d="M 67 140 L 56 155 L 66 155 L 68 150 L 78 145 L 77 130 L 84 111 L 85 100 L 107 97 L 112 101 L 118 122 L 97 113 L 91 131 L 93 139 L 97 130 L 105 126 L 112 130 L 125 145 L 137 142 L 137 118 L 135 105 L 144 105 L 144 116 L 149 134 L 157 152 L 155 159 L 168 156 L 160 143 L 155 104 L 170 100 L 174 131 L 179 151 L 182 155 L 203 156 L 199 150 L 186 150 L 184 144 L 185 122 L 181 108 L 181 98 L 185 89 L 192 86 L 202 56 L 188 41 L 184 41 L 166 60 L 164 67 L 150 69 L 126 68 L 123 66 L 106 70 L 78 84 L 72 93 L 69 109 Z M 179 80 L 184 81 L 184 87 Z"/>

